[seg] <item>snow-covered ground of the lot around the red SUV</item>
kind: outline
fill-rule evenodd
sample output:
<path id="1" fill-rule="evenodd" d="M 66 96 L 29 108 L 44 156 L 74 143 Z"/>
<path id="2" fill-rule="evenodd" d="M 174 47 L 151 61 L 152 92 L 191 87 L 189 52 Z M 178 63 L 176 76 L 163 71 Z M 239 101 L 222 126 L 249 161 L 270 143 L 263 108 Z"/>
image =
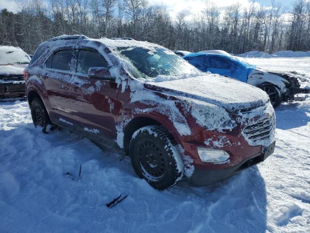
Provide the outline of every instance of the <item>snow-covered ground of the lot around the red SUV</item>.
<path id="1" fill-rule="evenodd" d="M 247 58 L 310 73 L 310 58 Z M 305 60 L 304 60 L 305 59 Z M 43 134 L 27 102 L 0 102 L 0 233 L 310 232 L 310 99 L 282 104 L 263 164 L 208 187 L 160 192 L 130 161 L 67 132 Z M 71 181 L 66 172 L 81 179 Z M 112 209 L 105 204 L 128 198 Z"/>

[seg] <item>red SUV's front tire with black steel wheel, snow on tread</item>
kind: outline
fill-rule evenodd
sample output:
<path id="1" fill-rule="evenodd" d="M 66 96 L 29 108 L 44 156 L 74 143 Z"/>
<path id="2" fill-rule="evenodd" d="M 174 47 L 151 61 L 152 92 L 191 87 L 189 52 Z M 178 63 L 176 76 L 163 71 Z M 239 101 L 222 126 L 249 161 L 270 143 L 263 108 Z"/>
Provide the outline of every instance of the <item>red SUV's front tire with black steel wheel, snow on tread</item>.
<path id="1" fill-rule="evenodd" d="M 168 189 L 183 177 L 181 155 L 162 126 L 151 125 L 137 130 L 129 144 L 129 157 L 137 175 L 156 189 Z"/>

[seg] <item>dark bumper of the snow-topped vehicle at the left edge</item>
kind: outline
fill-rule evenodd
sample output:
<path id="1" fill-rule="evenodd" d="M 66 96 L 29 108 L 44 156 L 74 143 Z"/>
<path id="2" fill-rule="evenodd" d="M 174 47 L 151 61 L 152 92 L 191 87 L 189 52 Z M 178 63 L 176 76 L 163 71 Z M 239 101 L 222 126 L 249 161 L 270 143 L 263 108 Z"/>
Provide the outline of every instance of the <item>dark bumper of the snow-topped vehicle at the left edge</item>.
<path id="1" fill-rule="evenodd" d="M 26 95 L 25 83 L 0 83 L 0 98 L 22 97 Z"/>

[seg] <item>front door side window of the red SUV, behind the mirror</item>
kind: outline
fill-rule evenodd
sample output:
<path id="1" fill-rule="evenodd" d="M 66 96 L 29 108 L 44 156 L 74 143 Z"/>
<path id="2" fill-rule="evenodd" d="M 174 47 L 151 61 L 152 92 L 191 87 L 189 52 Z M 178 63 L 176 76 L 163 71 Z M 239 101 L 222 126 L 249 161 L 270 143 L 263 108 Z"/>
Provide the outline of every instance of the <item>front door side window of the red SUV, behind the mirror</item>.
<path id="1" fill-rule="evenodd" d="M 90 67 L 108 68 L 108 63 L 97 51 L 79 50 L 77 72 L 88 74 L 88 69 Z"/>

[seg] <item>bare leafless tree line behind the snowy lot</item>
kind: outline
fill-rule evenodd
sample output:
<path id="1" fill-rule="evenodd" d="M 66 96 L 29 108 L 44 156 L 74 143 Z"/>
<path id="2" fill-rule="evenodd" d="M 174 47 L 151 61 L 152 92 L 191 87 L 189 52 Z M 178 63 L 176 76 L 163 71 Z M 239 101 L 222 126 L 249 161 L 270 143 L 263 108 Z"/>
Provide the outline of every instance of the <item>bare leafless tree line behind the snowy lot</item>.
<path id="1" fill-rule="evenodd" d="M 171 17 L 167 7 L 147 0 L 18 0 L 18 11 L 0 11 L 0 45 L 33 53 L 37 46 L 62 34 L 92 38 L 131 37 L 171 50 L 310 50 L 310 1 L 295 0 L 285 8 L 251 2 L 232 4 L 224 12 L 206 2 L 200 14 L 186 20 Z"/>

